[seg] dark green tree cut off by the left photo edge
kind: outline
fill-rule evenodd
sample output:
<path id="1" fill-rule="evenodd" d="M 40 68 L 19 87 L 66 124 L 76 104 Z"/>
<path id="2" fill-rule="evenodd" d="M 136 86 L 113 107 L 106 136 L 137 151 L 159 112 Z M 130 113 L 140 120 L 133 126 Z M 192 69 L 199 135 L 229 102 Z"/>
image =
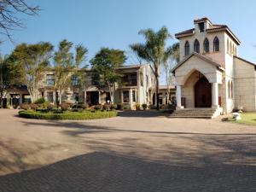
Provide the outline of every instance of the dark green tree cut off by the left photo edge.
<path id="1" fill-rule="evenodd" d="M 5 58 L 0 55 L 0 107 L 3 107 L 4 93 L 9 87 L 9 72 Z"/>

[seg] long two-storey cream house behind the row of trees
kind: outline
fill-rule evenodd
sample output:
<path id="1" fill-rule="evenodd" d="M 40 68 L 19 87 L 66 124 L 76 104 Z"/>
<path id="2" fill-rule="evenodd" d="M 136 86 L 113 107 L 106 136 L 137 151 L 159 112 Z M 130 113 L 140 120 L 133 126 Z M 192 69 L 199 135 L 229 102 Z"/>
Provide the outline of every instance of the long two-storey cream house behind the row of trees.
<path id="1" fill-rule="evenodd" d="M 104 104 L 110 101 L 110 95 L 107 88 L 97 89 L 91 78 L 91 70 L 83 69 L 85 73 L 84 88 L 79 88 L 79 79 L 71 75 L 70 87 L 64 91 L 61 101 L 65 102 L 85 102 L 89 105 Z M 126 108 L 135 108 L 136 103 L 152 104 L 151 98 L 154 94 L 154 73 L 151 67 L 147 65 L 131 65 L 119 67 L 123 74 L 123 84 L 115 84 L 113 92 L 113 102 L 123 103 Z M 38 89 L 38 98 L 51 103 L 59 100 L 60 92 L 55 90 L 55 74 L 53 70 L 46 71 L 44 79 Z M 24 102 L 30 102 L 30 96 L 26 86 L 16 87 L 8 90 L 4 99 L 4 105 L 18 107 Z"/>

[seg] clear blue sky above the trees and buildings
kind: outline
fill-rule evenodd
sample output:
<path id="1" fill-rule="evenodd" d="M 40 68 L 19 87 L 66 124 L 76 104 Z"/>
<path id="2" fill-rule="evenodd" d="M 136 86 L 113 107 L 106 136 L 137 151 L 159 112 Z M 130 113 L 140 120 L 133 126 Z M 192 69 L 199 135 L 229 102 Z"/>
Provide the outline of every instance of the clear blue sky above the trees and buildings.
<path id="1" fill-rule="evenodd" d="M 226 24 L 241 40 L 239 55 L 256 62 L 256 1 L 215 0 L 30 0 L 43 10 L 26 17 L 26 29 L 12 32 L 16 44 L 49 41 L 55 47 L 67 38 L 89 49 L 88 61 L 101 47 L 129 50 L 129 44 L 143 41 L 137 32 L 167 26 L 174 34 L 193 27 L 193 20 L 204 16 L 212 23 Z M 176 40 L 170 40 L 172 44 Z M 15 44 L 0 46 L 9 54 Z M 128 59 L 127 63 L 134 60 Z"/>

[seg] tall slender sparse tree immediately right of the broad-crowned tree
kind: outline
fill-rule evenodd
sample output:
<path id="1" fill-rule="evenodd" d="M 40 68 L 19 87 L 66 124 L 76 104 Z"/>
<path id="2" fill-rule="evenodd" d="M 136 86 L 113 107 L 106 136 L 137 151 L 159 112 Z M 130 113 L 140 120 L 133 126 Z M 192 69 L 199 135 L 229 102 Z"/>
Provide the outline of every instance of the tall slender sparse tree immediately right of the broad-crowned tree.
<path id="1" fill-rule="evenodd" d="M 54 55 L 55 90 L 60 91 L 59 103 L 61 103 L 63 90 L 66 90 L 71 83 L 71 75 L 74 69 L 72 42 L 64 39 L 59 44 L 59 49 Z"/>

